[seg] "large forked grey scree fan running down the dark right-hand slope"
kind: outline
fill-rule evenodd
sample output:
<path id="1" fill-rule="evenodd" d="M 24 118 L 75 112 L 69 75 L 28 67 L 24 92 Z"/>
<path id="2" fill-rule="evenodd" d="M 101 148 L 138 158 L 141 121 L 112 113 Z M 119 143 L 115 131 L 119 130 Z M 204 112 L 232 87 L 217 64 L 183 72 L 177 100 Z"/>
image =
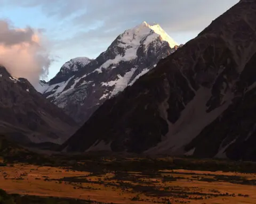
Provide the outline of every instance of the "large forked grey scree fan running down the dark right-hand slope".
<path id="1" fill-rule="evenodd" d="M 146 152 L 168 152 L 173 155 L 185 154 L 183 147 L 193 140 L 204 128 L 213 122 L 228 106 L 234 98 L 233 93 L 227 92 L 227 101 L 210 113 L 206 112 L 206 103 L 211 97 L 211 90 L 201 87 L 196 91 L 196 95 L 181 112 L 179 120 L 174 124 L 169 124 L 169 132 L 164 140 L 158 143 L 154 148 Z M 163 113 L 164 114 L 164 113 Z"/>

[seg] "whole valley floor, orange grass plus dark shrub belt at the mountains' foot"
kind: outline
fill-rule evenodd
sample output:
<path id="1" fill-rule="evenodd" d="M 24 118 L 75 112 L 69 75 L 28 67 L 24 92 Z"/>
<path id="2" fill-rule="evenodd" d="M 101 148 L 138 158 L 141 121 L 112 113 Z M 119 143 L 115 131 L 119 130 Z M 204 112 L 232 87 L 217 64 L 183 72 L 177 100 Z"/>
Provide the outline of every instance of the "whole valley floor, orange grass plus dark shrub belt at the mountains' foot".
<path id="1" fill-rule="evenodd" d="M 243 185 L 245 188 L 255 186 L 255 172 L 256 163 L 221 159 L 167 156 L 152 158 L 137 155 L 108 155 L 106 152 L 42 156 L 0 137 L 2 181 L 18 182 L 24 185 L 26 190 L 26 185 L 33 182 L 33 185 L 38 185 L 38 191 L 42 191 L 42 195 L 49 193 L 51 195 L 52 186 L 61 189 L 62 197 L 66 197 L 65 191 L 77 195 L 76 200 L 20 196 L 6 194 L 2 190 L 1 204 L 99 203 L 89 196 L 86 197 L 86 193 L 90 195 L 91 192 L 94 192 L 94 195 L 95 192 L 99 195 L 109 194 L 109 198 L 112 198 L 111 193 L 114 193 L 116 203 L 122 200 L 131 203 L 193 203 L 202 200 L 204 203 L 209 199 L 253 199 L 255 195 L 252 196 L 250 193 L 217 189 L 215 184 L 218 182 L 225 183 L 225 186 Z M 63 190 L 65 188 L 67 189 Z M 118 200 L 119 197 L 122 199 Z M 109 201 L 99 198 L 101 202 Z"/>

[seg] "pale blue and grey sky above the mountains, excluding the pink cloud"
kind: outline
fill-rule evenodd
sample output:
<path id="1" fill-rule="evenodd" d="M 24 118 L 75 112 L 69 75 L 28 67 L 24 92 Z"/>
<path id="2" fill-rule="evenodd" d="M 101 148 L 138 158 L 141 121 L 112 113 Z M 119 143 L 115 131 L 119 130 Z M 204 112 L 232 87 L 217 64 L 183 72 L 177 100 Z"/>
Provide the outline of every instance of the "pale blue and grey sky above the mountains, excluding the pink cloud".
<path id="1" fill-rule="evenodd" d="M 143 21 L 158 23 L 177 43 L 185 44 L 238 2 L 239 0 L 0 0 L 0 21 L 7 22 L 11 32 L 25 29 L 29 34 L 32 30 L 33 35 L 40 37 L 38 45 L 43 49 L 37 49 L 36 52 L 42 54 L 44 50 L 44 55 L 37 65 L 46 68 L 42 68 L 41 72 L 37 70 L 36 73 L 47 81 L 71 58 L 96 58 L 119 34 Z M 30 37 L 32 39 L 32 35 Z"/>

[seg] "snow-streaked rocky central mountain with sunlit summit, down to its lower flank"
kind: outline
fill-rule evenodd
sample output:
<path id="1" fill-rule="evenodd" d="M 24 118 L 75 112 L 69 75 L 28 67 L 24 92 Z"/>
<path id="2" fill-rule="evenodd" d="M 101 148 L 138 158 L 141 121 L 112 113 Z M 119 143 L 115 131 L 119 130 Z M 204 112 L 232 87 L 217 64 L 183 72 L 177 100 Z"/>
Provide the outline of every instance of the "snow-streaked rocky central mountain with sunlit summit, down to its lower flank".
<path id="1" fill-rule="evenodd" d="M 119 35 L 105 52 L 76 72 L 63 77 L 60 71 L 41 92 L 83 124 L 105 100 L 177 50 L 176 44 L 159 25 L 143 22 Z"/>

